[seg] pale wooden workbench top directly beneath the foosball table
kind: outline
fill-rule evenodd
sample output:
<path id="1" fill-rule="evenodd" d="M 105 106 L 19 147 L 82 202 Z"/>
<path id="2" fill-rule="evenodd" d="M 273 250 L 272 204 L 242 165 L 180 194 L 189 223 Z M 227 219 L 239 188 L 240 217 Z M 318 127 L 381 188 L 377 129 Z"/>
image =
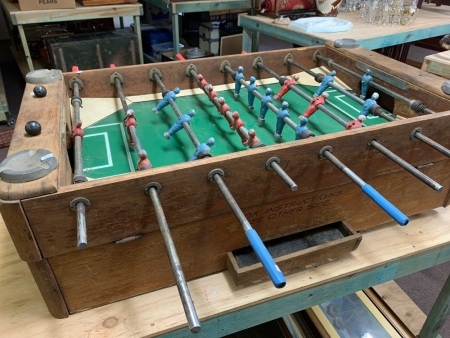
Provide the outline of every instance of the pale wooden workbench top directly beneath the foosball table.
<path id="1" fill-rule="evenodd" d="M 246 308 L 257 308 L 283 299 L 289 301 L 296 294 L 311 297 L 314 290 L 317 291 L 315 288 L 325 284 L 331 287 L 324 289 L 328 295 L 321 297 L 332 297 L 333 290 L 343 283 L 352 292 L 352 288 L 359 286 L 355 284 L 355 276 L 364 277 L 364 273 L 370 270 L 378 269 L 374 279 L 365 283 L 374 285 L 411 273 L 411 269 L 417 269 L 412 265 L 426 267 L 422 261 L 429 266 L 447 261 L 450 259 L 449 227 L 450 210 L 439 208 L 412 217 L 405 227 L 389 223 L 373 228 L 363 233 L 357 251 L 334 262 L 287 276 L 287 286 L 281 290 L 273 288 L 270 283 L 236 287 L 228 273 L 191 281 L 191 295 L 204 324 L 202 332 L 196 336 L 211 337 L 211 332 L 217 329 L 228 334 L 246 325 L 240 316 Z M 54 319 L 48 313 L 26 263 L 19 259 L 1 218 L 0 271 L 0 327 L 5 337 L 142 337 L 173 329 L 181 329 L 182 334 L 177 337 L 191 335 L 175 287 L 78 313 L 67 319 Z M 289 311 L 291 303 L 282 308 Z M 273 311 L 277 312 L 276 306 Z M 265 321 L 270 312 L 267 308 L 261 311 L 259 320 Z M 222 317 L 220 321 L 218 316 Z"/>

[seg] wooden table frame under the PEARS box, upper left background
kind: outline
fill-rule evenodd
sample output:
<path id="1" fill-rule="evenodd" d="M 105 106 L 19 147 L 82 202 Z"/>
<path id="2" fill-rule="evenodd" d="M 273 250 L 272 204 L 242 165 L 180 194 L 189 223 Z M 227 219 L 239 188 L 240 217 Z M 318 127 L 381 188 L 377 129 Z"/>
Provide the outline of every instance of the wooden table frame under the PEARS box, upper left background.
<path id="1" fill-rule="evenodd" d="M 21 11 L 19 4 L 10 3 L 7 0 L 1 0 L 1 6 L 10 23 L 17 26 L 20 40 L 25 53 L 25 58 L 28 64 L 28 71 L 34 70 L 33 60 L 31 59 L 30 50 L 28 48 L 27 37 L 23 26 L 36 23 L 49 22 L 63 22 L 76 20 L 90 20 L 98 18 L 114 18 L 132 16 L 136 29 L 139 46 L 139 61 L 144 63 L 144 56 L 142 52 L 142 36 L 141 36 L 141 22 L 140 17 L 144 11 L 142 5 L 139 3 L 121 4 L 121 5 L 104 5 L 84 7 L 77 3 L 74 9 L 52 9 L 52 10 L 37 10 L 37 11 Z"/>

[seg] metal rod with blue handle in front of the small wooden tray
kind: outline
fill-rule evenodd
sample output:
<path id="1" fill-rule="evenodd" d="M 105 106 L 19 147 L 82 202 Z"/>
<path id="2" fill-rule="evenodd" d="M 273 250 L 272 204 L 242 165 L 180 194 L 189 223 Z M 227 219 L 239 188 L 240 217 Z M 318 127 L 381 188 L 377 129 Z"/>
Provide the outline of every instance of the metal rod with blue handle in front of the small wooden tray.
<path id="1" fill-rule="evenodd" d="M 270 255 L 257 232 L 250 225 L 241 208 L 239 208 L 236 200 L 233 198 L 233 195 L 230 193 L 225 182 L 222 179 L 223 175 L 224 172 L 222 169 L 214 169 L 209 173 L 208 178 L 211 182 L 216 182 L 219 186 L 219 189 L 220 191 L 222 191 L 222 194 L 228 202 L 228 205 L 238 219 L 239 223 L 241 223 L 245 235 L 250 242 L 250 245 L 252 246 L 264 269 L 272 280 L 273 285 L 276 288 L 284 287 L 286 285 L 286 279 L 283 273 L 280 271 L 280 268 L 275 263 L 274 259 Z"/>

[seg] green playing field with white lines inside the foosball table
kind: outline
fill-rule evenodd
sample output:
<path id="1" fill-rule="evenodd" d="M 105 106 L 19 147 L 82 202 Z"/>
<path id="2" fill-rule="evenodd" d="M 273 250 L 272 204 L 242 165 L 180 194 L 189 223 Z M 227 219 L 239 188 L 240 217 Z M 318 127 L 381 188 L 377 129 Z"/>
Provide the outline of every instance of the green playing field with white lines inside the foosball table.
<path id="1" fill-rule="evenodd" d="M 264 94 L 267 87 L 272 88 L 273 93 L 280 89 L 279 84 L 261 85 L 258 91 Z M 317 87 L 299 85 L 305 93 L 312 96 Z M 361 105 L 342 93 L 328 89 L 329 98 L 326 107 L 344 121 L 354 120 L 358 117 Z M 295 132 L 288 125 L 284 127 L 281 140 L 275 140 L 276 114 L 269 110 L 264 124 L 258 123 L 260 101 L 255 98 L 254 109 L 247 107 L 247 90 L 243 87 L 238 99 L 233 97 L 232 91 L 218 92 L 225 98 L 232 111 L 238 111 L 241 119 L 248 129 L 255 129 L 256 135 L 265 145 L 277 142 L 301 142 L 295 140 Z M 298 123 L 298 116 L 309 106 L 305 99 L 289 91 L 283 96 L 283 101 L 289 103 L 291 120 Z M 273 100 L 276 107 L 281 103 Z M 227 154 L 236 151 L 245 151 L 248 147 L 242 145 L 239 135 L 230 129 L 228 122 L 222 117 L 206 94 L 181 96 L 175 101 L 180 111 L 184 114 L 194 109 L 196 115 L 191 119 L 190 125 L 200 143 L 214 137 L 215 144 L 211 147 L 213 156 Z M 169 106 L 162 109 L 159 114 L 154 114 L 152 109 L 157 101 L 129 102 L 129 108 L 135 111 L 137 120 L 137 134 L 142 147 L 147 151 L 153 167 L 161 167 L 174 163 L 188 161 L 195 151 L 195 147 L 184 130 L 180 130 L 171 139 L 167 140 L 163 134 L 177 120 L 173 109 Z M 98 107 L 101 109 L 101 107 Z M 124 111 L 111 112 L 106 118 L 84 129 L 83 139 L 83 166 L 85 175 L 89 179 L 97 179 L 133 172 L 136 169 L 138 156 L 134 148 L 128 145 L 128 134 L 123 123 Z M 369 116 L 365 125 L 383 123 L 385 120 Z M 316 136 L 343 131 L 344 127 L 338 122 L 318 110 L 312 115 L 307 124 L 310 131 Z"/>

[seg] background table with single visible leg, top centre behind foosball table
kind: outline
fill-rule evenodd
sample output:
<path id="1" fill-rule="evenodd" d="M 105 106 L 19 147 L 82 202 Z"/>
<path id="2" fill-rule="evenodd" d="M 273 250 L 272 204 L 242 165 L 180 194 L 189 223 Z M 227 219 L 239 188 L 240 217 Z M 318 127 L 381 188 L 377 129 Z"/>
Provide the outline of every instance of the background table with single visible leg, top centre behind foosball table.
<path id="1" fill-rule="evenodd" d="M 251 0 L 222 0 L 222 1 L 166 1 L 143 0 L 152 6 L 168 10 L 172 21 L 173 46 L 175 54 L 180 52 L 180 23 L 178 13 L 197 13 L 209 11 L 246 9 L 251 7 Z"/>

